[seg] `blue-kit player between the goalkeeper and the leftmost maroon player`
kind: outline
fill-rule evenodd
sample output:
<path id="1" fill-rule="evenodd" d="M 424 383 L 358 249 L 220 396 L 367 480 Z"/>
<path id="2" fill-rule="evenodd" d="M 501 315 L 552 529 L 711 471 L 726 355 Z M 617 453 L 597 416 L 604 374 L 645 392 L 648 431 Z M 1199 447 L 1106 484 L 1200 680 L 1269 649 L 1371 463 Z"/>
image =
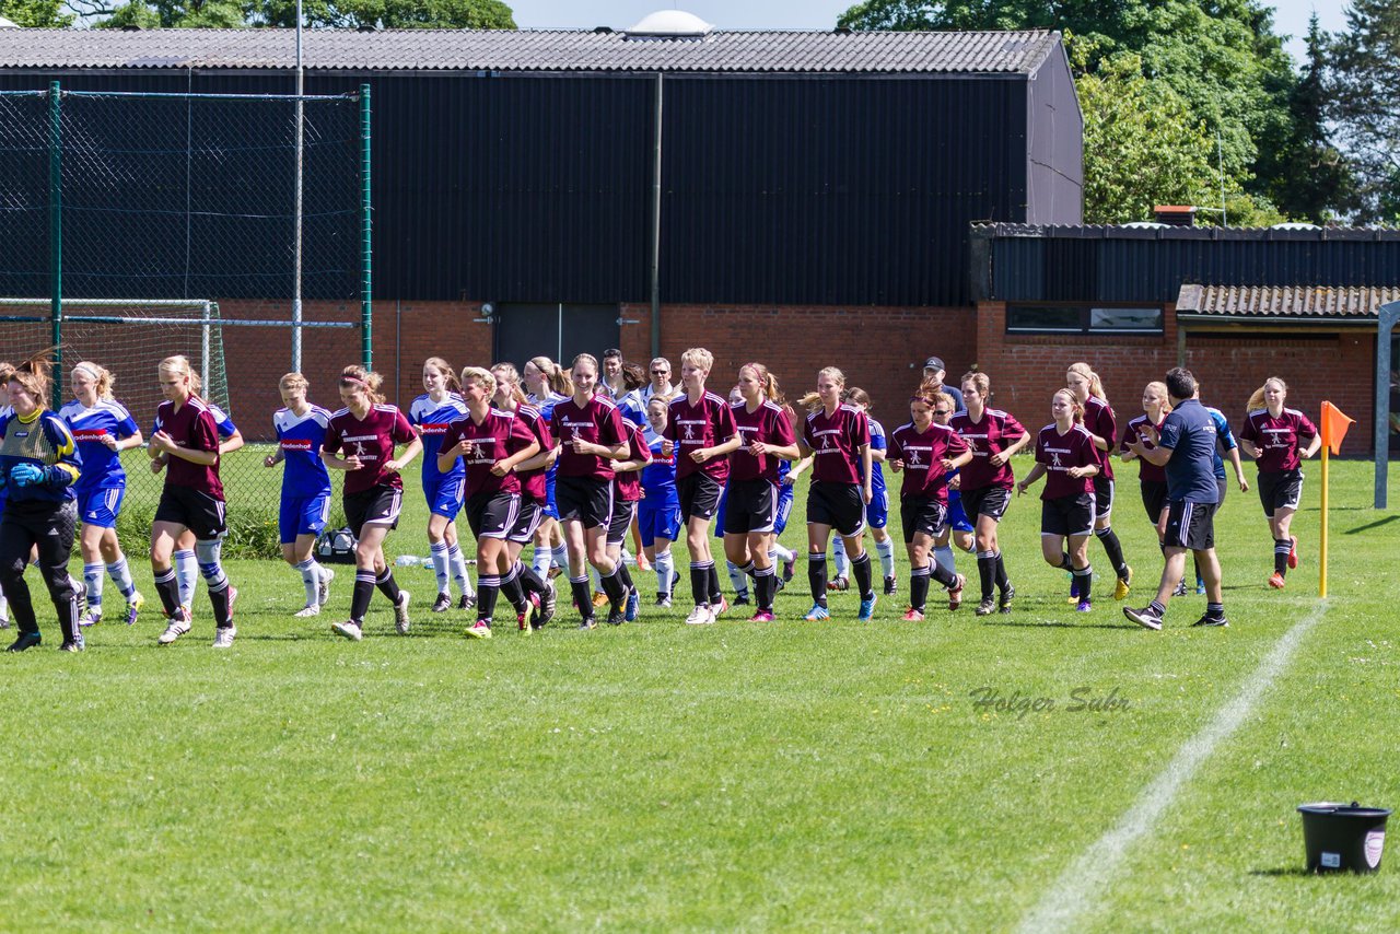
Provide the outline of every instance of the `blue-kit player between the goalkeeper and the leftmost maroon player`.
<path id="1" fill-rule="evenodd" d="M 141 430 L 120 402 L 112 398 L 115 379 L 106 368 L 95 363 L 73 367 L 73 402 L 59 412 L 78 445 L 83 475 L 73 487 L 78 500 L 78 521 L 83 534 L 78 548 L 83 553 L 83 583 L 87 588 L 88 609 L 80 626 L 102 622 L 102 571 L 126 601 L 126 625 L 136 622 L 146 598 L 132 581 L 132 569 L 116 538 L 116 517 L 126 497 L 126 471 L 122 451 L 144 444 Z"/>

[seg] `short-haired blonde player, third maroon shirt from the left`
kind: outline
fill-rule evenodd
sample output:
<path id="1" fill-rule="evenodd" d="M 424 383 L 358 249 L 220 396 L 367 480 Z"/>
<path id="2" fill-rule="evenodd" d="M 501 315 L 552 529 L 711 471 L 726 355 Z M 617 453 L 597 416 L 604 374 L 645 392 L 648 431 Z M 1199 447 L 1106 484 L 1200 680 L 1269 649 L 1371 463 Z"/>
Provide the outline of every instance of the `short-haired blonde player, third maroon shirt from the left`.
<path id="1" fill-rule="evenodd" d="M 519 615 L 526 605 L 515 559 L 505 545 L 521 510 L 521 482 L 515 466 L 539 454 L 539 440 L 514 412 L 491 406 L 496 377 L 489 370 L 462 371 L 462 399 L 466 417 L 447 426 L 437 456 L 440 473 L 466 466 L 463 507 L 476 536 L 476 625 L 466 630 L 475 639 L 491 637 L 496 598 L 505 598 Z M 526 630 L 529 632 L 529 630 Z"/>

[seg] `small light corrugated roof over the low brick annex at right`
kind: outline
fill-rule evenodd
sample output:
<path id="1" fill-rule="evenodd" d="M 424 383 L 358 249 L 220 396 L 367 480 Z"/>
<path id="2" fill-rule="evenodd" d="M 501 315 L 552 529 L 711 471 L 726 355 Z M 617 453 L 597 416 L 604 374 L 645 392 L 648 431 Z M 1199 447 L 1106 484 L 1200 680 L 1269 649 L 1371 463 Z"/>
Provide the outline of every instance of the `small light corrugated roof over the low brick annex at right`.
<path id="1" fill-rule="evenodd" d="M 1400 287 L 1182 286 L 1179 315 L 1249 318 L 1358 318 L 1375 321 Z"/>

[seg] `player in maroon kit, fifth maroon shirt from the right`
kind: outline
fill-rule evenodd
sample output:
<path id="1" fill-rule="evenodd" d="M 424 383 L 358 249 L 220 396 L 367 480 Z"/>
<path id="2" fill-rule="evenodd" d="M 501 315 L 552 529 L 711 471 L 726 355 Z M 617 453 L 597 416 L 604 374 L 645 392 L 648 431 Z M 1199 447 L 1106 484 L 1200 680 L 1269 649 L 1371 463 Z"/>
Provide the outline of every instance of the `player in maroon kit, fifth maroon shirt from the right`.
<path id="1" fill-rule="evenodd" d="M 986 372 L 963 374 L 962 393 L 967 407 L 955 412 L 949 420 L 953 431 L 962 435 L 972 451 L 972 461 L 959 473 L 959 492 L 963 510 L 976 527 L 977 576 L 981 578 L 979 616 L 987 616 L 993 611 L 1009 613 L 1011 601 L 1016 595 L 1001 557 L 997 525 L 1011 504 L 1011 487 L 1016 482 L 1011 471 L 1011 455 L 1030 444 L 1030 433 L 1014 416 L 987 407 L 990 392 L 991 381 Z M 1000 602 L 991 598 L 993 583 L 1000 591 Z"/>

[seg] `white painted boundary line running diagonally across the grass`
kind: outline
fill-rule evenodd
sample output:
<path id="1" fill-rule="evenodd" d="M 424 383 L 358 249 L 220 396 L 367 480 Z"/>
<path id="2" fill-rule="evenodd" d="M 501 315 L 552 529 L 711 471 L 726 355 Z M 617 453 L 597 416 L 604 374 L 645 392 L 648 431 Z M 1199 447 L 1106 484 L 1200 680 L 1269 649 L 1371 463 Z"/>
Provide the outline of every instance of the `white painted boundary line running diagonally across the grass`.
<path id="1" fill-rule="evenodd" d="M 1215 748 L 1239 730 L 1260 696 L 1274 683 L 1296 651 L 1303 636 L 1327 613 L 1327 602 L 1319 601 L 1313 611 L 1284 633 L 1239 693 L 1221 707 L 1215 718 L 1176 751 L 1172 762 L 1142 790 L 1131 808 L 1113 828 L 1095 840 L 1089 849 L 1060 874 L 1050 891 L 1021 920 L 1021 931 L 1068 931 L 1078 917 L 1088 914 L 1123 867 L 1128 847 L 1152 832 L 1158 818 L 1172 805 L 1176 794 L 1196 774 Z"/>

